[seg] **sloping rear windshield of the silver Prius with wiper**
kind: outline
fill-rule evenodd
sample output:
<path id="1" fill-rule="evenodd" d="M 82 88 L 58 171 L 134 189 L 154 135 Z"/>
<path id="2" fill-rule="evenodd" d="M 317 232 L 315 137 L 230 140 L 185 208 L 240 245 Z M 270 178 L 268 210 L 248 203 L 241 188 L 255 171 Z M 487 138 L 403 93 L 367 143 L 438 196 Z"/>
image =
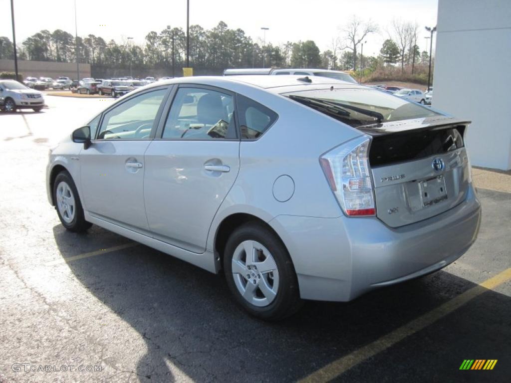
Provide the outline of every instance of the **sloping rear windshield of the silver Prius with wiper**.
<path id="1" fill-rule="evenodd" d="M 375 89 L 329 88 L 284 95 L 353 127 L 440 115 Z"/>

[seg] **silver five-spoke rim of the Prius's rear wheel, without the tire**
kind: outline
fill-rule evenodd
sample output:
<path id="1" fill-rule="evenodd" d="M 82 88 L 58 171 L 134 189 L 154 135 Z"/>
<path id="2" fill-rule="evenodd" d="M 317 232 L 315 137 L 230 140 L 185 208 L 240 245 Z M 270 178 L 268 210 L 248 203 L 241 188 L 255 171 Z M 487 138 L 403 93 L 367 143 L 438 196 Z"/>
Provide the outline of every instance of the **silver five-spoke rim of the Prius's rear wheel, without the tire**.
<path id="1" fill-rule="evenodd" d="M 243 241 L 233 254 L 233 278 L 241 296 L 254 306 L 268 306 L 278 293 L 278 269 L 268 249 Z"/>

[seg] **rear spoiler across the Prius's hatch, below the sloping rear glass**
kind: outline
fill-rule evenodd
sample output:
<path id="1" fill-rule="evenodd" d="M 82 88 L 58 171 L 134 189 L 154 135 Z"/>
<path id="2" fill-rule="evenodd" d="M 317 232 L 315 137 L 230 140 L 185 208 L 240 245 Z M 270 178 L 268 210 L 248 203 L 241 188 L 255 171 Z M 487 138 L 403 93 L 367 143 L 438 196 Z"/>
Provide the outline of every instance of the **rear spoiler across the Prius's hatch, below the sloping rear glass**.
<path id="1" fill-rule="evenodd" d="M 436 130 L 445 127 L 452 127 L 453 125 L 469 125 L 472 121 L 466 119 L 459 119 L 448 116 L 427 117 L 407 119 L 404 121 L 393 121 L 382 124 L 373 124 L 365 126 L 357 126 L 356 129 L 366 133 L 370 136 L 377 137 L 387 134 L 400 134 L 409 132 L 410 130 Z"/>

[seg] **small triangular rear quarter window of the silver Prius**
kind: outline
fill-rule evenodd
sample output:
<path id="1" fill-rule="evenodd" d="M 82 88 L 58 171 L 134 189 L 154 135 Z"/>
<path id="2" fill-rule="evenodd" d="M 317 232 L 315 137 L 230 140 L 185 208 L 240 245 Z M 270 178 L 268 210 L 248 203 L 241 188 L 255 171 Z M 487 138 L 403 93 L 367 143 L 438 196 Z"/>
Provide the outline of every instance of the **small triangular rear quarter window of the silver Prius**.
<path id="1" fill-rule="evenodd" d="M 236 96 L 241 139 L 256 139 L 278 118 L 273 110 L 241 94 Z"/>

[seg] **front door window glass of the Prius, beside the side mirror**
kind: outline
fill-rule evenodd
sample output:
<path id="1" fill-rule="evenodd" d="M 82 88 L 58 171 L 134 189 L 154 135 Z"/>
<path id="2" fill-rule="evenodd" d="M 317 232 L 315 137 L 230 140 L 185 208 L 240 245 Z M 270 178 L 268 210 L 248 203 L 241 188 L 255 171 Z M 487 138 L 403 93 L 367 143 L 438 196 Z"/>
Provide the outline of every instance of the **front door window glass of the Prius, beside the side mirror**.
<path id="1" fill-rule="evenodd" d="M 98 139 L 149 138 L 167 89 L 140 94 L 110 109 L 103 116 Z"/>

